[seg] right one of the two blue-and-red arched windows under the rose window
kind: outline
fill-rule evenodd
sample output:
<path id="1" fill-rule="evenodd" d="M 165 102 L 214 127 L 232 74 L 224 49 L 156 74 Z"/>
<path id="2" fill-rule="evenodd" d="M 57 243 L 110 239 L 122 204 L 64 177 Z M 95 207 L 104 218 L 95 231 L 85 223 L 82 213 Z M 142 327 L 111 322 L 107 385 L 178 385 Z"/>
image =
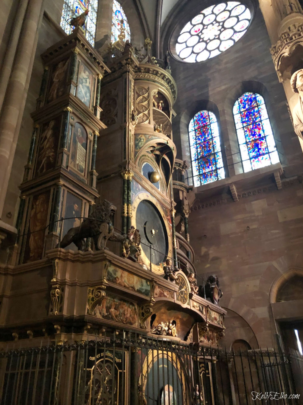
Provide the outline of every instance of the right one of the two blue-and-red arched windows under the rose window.
<path id="1" fill-rule="evenodd" d="M 244 172 L 280 162 L 264 98 L 244 93 L 233 113 Z"/>

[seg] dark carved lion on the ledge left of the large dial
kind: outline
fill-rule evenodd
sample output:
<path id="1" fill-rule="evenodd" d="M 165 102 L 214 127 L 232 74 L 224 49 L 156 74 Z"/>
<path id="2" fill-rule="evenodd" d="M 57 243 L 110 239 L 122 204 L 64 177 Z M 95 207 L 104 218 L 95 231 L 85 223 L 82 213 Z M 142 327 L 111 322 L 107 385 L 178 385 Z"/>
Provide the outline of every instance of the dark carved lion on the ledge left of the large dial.
<path id="1" fill-rule="evenodd" d="M 86 246 L 86 238 L 93 238 L 95 248 L 97 250 L 104 249 L 106 242 L 116 241 L 123 242 L 125 237 L 114 231 L 111 222 L 111 215 L 116 211 L 116 207 L 107 200 L 103 200 L 101 204 L 96 205 L 89 217 L 82 222 L 80 226 L 71 228 L 62 239 L 59 247 L 66 247 L 70 243 L 74 243 L 79 250 L 84 250 Z"/>

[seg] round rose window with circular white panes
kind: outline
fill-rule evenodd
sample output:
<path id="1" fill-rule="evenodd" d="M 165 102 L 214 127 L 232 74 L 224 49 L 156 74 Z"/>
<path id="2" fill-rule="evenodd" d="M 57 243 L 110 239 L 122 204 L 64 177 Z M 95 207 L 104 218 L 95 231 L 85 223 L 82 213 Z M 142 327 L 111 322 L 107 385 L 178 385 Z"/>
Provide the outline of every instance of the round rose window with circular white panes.
<path id="1" fill-rule="evenodd" d="M 184 62 L 202 62 L 232 47 L 247 31 L 251 14 L 238 1 L 207 7 L 181 30 L 176 52 Z"/>

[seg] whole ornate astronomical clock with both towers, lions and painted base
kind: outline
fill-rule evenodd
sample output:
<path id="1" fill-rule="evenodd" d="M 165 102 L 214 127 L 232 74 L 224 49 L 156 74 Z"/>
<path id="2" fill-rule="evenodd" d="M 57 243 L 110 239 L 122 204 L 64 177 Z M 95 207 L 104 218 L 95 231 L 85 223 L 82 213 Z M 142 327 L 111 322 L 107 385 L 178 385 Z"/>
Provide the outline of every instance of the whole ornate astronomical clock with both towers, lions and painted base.
<path id="1" fill-rule="evenodd" d="M 101 57 L 77 28 L 42 55 L 44 77 L 20 186 L 13 264 L 19 270 L 4 283 L 15 286 L 13 293 L 2 297 L 1 319 L 11 326 L 2 332 L 7 341 L 28 335 L 58 347 L 77 336 L 90 370 L 81 369 L 77 356 L 74 380 L 86 376 L 85 403 L 125 405 L 126 392 L 135 403 L 163 403 L 175 381 L 177 398 L 170 403 L 187 405 L 191 387 L 199 378 L 204 384 L 198 356 L 193 377 L 187 355 L 159 353 L 154 342 L 165 336 L 170 347 L 217 345 L 225 311 L 216 305 L 216 277 L 205 288 L 211 302 L 198 294 L 194 252 L 175 229 L 181 211 L 172 179 L 179 167 L 171 124 L 175 81 L 151 56 L 150 40 L 138 51 L 123 41 L 123 32 L 119 38 Z M 34 318 L 27 308 L 35 308 Z M 134 335 L 134 341 L 148 340 L 145 348 L 127 346 Z M 90 350 L 85 344 L 94 339 L 98 345 Z M 154 370 L 163 372 L 160 382 Z"/>

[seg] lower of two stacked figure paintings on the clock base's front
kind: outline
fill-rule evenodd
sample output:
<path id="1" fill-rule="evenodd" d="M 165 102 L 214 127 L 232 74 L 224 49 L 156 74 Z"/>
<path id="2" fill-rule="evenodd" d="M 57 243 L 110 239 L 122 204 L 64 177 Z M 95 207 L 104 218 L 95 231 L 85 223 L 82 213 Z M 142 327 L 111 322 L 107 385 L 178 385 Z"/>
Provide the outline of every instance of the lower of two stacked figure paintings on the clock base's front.
<path id="1" fill-rule="evenodd" d="M 120 324 L 137 326 L 138 314 L 134 303 L 107 295 L 96 305 L 93 315 Z"/>

